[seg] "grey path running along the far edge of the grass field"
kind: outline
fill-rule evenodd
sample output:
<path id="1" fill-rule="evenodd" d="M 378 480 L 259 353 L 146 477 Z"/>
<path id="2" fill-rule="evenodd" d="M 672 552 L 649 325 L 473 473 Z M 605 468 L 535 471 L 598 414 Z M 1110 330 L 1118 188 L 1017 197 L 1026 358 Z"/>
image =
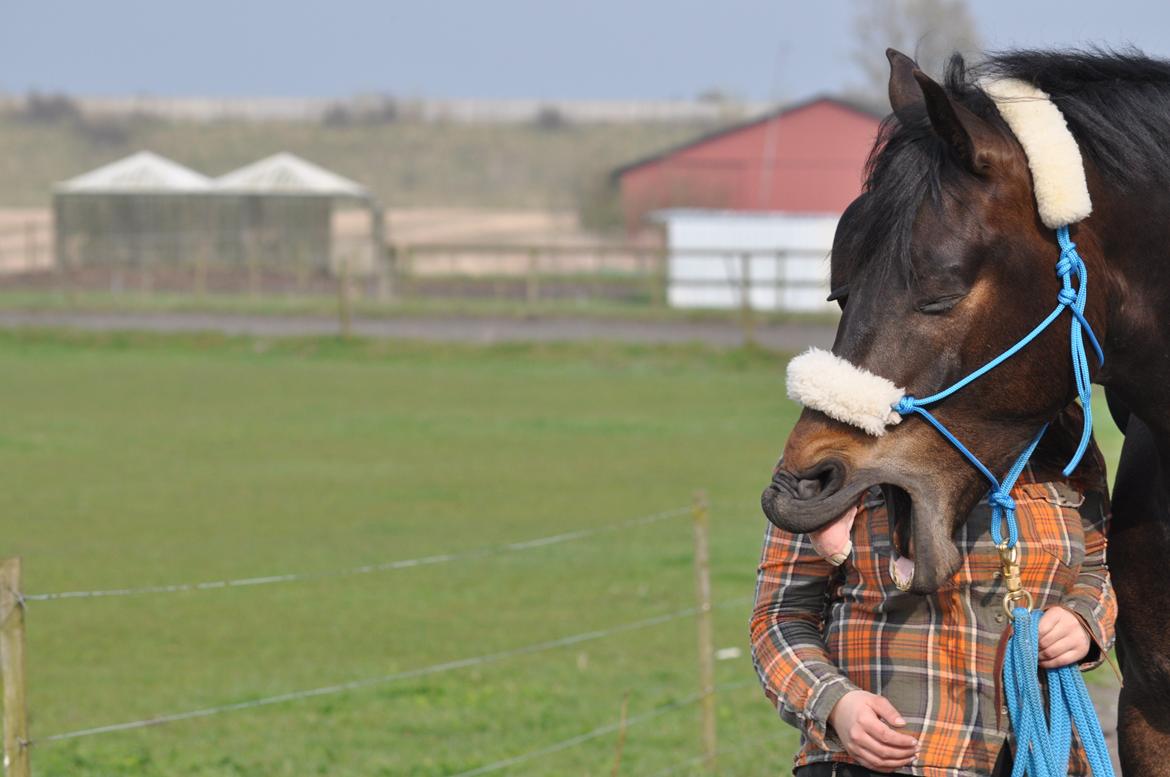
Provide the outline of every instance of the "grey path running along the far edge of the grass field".
<path id="1" fill-rule="evenodd" d="M 241 316 L 198 312 L 74 312 L 0 311 L 0 328 L 66 328 L 91 331 L 195 332 L 289 337 L 332 335 L 337 319 L 310 316 Z M 743 343 L 743 332 L 727 322 L 645 322 L 599 318 L 436 318 L 404 316 L 360 318 L 352 331 L 363 337 L 387 337 L 456 343 L 508 343 L 606 339 L 620 343 L 704 343 L 730 348 Z M 760 345 L 796 351 L 808 345 L 828 348 L 833 330 L 819 324 L 771 324 L 757 330 Z"/>

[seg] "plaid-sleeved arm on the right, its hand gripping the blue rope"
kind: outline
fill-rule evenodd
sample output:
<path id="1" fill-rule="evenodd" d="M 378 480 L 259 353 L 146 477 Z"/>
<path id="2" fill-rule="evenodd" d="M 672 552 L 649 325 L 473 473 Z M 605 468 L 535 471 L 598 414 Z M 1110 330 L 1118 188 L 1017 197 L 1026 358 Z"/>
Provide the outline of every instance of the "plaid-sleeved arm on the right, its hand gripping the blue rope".
<path id="1" fill-rule="evenodd" d="M 1085 527 L 1085 562 L 1076 583 L 1060 604 L 1076 616 L 1093 641 L 1088 655 L 1080 662 L 1081 669 L 1087 672 L 1100 666 L 1113 647 L 1117 599 L 1106 564 L 1109 511 L 1104 495 L 1087 493 L 1079 510 Z"/>

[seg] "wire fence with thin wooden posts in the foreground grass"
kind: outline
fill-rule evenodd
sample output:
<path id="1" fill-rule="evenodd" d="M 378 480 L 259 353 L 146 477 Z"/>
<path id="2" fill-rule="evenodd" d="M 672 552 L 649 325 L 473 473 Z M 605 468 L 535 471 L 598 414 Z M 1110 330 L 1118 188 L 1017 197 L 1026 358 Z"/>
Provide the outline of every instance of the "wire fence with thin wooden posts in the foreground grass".
<path id="1" fill-rule="evenodd" d="M 370 575 L 370 573 L 393 571 L 393 570 L 405 570 L 405 569 L 420 568 L 434 564 L 498 557 L 524 551 L 536 551 L 538 549 L 550 548 L 553 545 L 569 542 L 583 541 L 586 538 L 597 537 L 605 534 L 613 534 L 613 532 L 636 529 L 639 527 L 654 525 L 688 514 L 693 515 L 695 518 L 694 525 L 696 528 L 696 573 L 706 575 L 706 570 L 703 570 L 702 572 L 698 571 L 701 566 L 697 564 L 698 559 L 697 549 L 706 548 L 707 543 L 706 539 L 707 504 L 706 500 L 702 497 L 696 497 L 696 502 L 688 507 L 679 507 L 668 510 L 661 510 L 648 515 L 626 518 L 622 521 L 615 521 L 608 524 L 590 527 L 586 529 L 579 529 L 574 531 L 566 531 L 555 535 L 546 535 L 542 537 L 521 539 L 498 545 L 487 545 L 470 550 L 436 553 L 432 556 L 422 556 L 417 558 L 387 561 L 377 564 L 365 564 L 360 566 L 352 566 L 340 570 L 330 570 L 322 572 L 292 572 L 283 575 L 269 575 L 263 577 L 178 583 L 168 585 L 58 591 L 58 592 L 25 594 L 20 590 L 21 586 L 20 586 L 19 561 L 15 564 L 13 564 L 13 561 L 15 559 L 9 559 L 8 562 L 0 562 L 0 647 L 4 647 L 6 645 L 9 647 L 8 651 L 0 651 L 0 678 L 2 678 L 4 682 L 6 683 L 6 687 L 9 687 L 19 692 L 19 694 L 13 697 L 22 699 L 23 687 L 25 687 L 25 676 L 22 666 L 23 630 L 25 630 L 23 616 L 25 611 L 27 610 L 30 603 L 61 601 L 67 599 L 84 600 L 84 599 L 96 599 L 106 597 L 129 597 L 129 596 L 227 590 L 234 587 L 269 585 L 277 583 L 295 583 L 295 582 L 316 580 L 324 578 Z M 703 532 L 702 537 L 700 537 L 700 531 Z M 703 587 L 704 586 L 700 585 L 696 586 L 696 590 L 702 591 Z M 706 587 L 709 591 L 709 584 Z M 700 600 L 697 600 L 696 605 L 693 607 L 674 610 L 670 612 L 659 613 L 638 620 L 617 624 L 603 628 L 594 628 L 544 641 L 531 642 L 528 645 L 509 647 L 495 652 L 483 653 L 480 655 L 452 659 L 447 661 L 414 667 L 410 669 L 401 669 L 398 672 L 386 673 L 381 675 L 359 678 L 355 680 L 345 680 L 331 685 L 291 690 L 288 693 L 263 696 L 260 699 L 227 702 L 213 707 L 204 707 L 199 709 L 159 714 L 139 720 L 121 721 L 115 723 L 106 723 L 101 726 L 91 726 L 73 730 L 57 731 L 40 737 L 32 737 L 27 733 L 27 709 L 25 709 L 23 703 L 20 704 L 20 709 L 14 709 L 13 703 L 9 701 L 8 703 L 5 704 L 4 709 L 5 731 L 6 731 L 6 741 L 5 741 L 6 763 L 8 764 L 7 773 L 12 775 L 13 777 L 26 777 L 26 775 L 30 773 L 30 771 L 28 771 L 28 757 L 29 757 L 29 751 L 34 745 L 47 745 L 55 742 L 64 742 L 69 740 L 78 740 L 84 737 L 95 737 L 95 736 L 122 733 L 122 731 L 131 731 L 137 729 L 166 726 L 171 723 L 179 723 L 183 721 L 207 718 L 227 713 L 245 711 L 249 709 L 290 703 L 301 700 L 343 694 L 363 688 L 385 686 L 394 682 L 417 680 L 447 672 L 454 672 L 457 669 L 467 669 L 472 667 L 494 665 L 502 661 L 507 661 L 509 659 L 521 658 L 525 655 L 542 654 L 559 648 L 571 647 L 574 645 L 603 640 L 606 638 L 628 634 L 647 628 L 653 628 L 655 626 L 688 618 L 697 617 L 700 620 L 704 618 L 709 619 L 713 610 L 742 606 L 749 603 L 751 597 L 739 597 L 718 603 L 711 603 L 709 599 L 704 600 L 701 596 Z M 12 649 L 12 646 L 16 644 L 16 641 L 13 641 L 14 639 L 19 639 L 20 651 Z M 21 653 L 21 656 L 20 661 L 18 661 L 16 665 L 14 665 L 12 659 L 13 659 L 13 653 L 16 652 Z M 701 655 L 700 660 L 701 663 L 703 661 L 707 661 L 709 663 L 714 661 L 714 655 L 706 655 L 706 656 Z M 710 676 L 710 674 L 703 674 L 701 672 L 701 676 L 708 678 Z M 706 710 L 708 709 L 707 702 L 714 697 L 715 693 L 722 690 L 729 690 L 732 688 L 744 687 L 749 683 L 750 681 L 743 681 L 743 682 L 724 683 L 716 686 L 714 682 L 708 682 L 707 680 L 703 680 L 702 682 L 698 683 L 700 686 L 698 692 L 689 694 L 669 703 L 654 707 L 638 715 L 634 715 L 629 718 L 625 718 L 624 716 L 624 720 L 621 721 L 607 723 L 593 728 L 591 730 L 584 731 L 581 734 L 567 737 L 565 740 L 548 743 L 524 752 L 511 755 L 505 758 L 476 766 L 472 770 L 452 775 L 452 777 L 472 777 L 474 775 L 484 775 L 493 771 L 498 771 L 501 769 L 505 769 L 508 766 L 522 764 L 542 756 L 559 752 L 569 748 L 572 748 L 574 745 L 583 744 L 585 742 L 590 742 L 592 740 L 597 740 L 607 736 L 610 734 L 614 734 L 617 731 L 621 731 L 624 735 L 625 730 L 631 727 L 649 722 L 670 711 L 679 710 L 693 704 L 702 703 L 706 714 Z M 710 709 L 714 710 L 714 707 L 710 707 Z M 711 726 L 714 726 L 714 720 L 711 721 Z M 698 764 L 710 759 L 713 755 L 714 751 L 708 749 L 703 755 L 700 755 L 694 758 L 688 758 L 684 762 L 679 762 L 668 769 L 674 769 L 674 770 L 686 769 L 688 765 Z M 23 769 L 23 771 L 21 769 Z M 661 773 L 665 775 L 672 772 L 668 770 Z"/>

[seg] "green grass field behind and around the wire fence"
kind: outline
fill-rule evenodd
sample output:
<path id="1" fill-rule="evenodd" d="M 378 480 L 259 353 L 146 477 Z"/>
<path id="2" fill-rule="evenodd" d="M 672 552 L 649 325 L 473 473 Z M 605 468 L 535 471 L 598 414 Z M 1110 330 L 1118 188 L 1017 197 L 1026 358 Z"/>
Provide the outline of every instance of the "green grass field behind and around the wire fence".
<path id="1" fill-rule="evenodd" d="M 796 745 L 753 682 L 757 495 L 794 408 L 783 358 L 612 345 L 2 335 L 4 555 L 29 593 L 324 572 L 713 500 L 722 773 Z M 1107 446 L 1115 440 L 1107 435 Z M 408 671 L 693 605 L 686 516 L 360 577 L 30 603 L 32 734 Z M 168 727 L 46 743 L 41 777 L 443 776 L 684 701 L 691 618 Z M 698 752 L 682 704 L 622 775 Z M 498 773 L 608 775 L 614 734 Z M 675 773 L 689 773 L 687 769 Z"/>

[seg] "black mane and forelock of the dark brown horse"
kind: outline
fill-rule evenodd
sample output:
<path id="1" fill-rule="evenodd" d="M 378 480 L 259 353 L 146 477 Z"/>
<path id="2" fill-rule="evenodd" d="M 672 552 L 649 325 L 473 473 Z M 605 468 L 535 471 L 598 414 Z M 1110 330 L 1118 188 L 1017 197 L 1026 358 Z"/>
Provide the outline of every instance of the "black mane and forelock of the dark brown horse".
<path id="1" fill-rule="evenodd" d="M 944 83 L 952 98 L 1006 129 L 982 78 L 1019 78 L 1046 91 L 1086 161 L 1119 191 L 1170 184 L 1170 62 L 1135 50 L 1013 50 L 968 66 L 956 54 Z M 842 259 L 860 269 L 914 276 L 914 221 L 923 204 L 962 201 L 969 176 L 930 129 L 923 105 L 888 116 L 865 167 L 862 195 L 841 219 Z M 834 282 L 835 286 L 835 282 Z"/>

